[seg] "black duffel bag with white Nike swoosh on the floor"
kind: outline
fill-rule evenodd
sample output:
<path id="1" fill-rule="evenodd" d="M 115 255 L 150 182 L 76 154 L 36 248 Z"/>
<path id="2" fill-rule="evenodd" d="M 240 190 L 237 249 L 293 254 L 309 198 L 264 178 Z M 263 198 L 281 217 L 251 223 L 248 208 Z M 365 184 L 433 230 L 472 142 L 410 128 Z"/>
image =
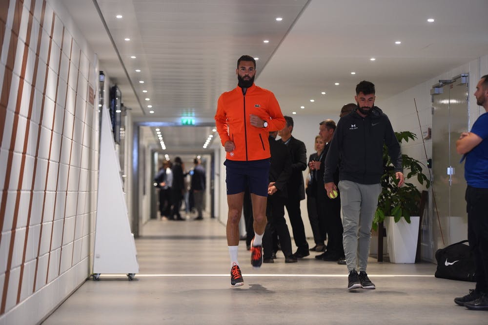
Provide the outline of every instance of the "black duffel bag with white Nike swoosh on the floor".
<path id="1" fill-rule="evenodd" d="M 476 282 L 474 253 L 469 245 L 464 243 L 468 241 L 451 244 L 435 252 L 436 278 Z"/>

